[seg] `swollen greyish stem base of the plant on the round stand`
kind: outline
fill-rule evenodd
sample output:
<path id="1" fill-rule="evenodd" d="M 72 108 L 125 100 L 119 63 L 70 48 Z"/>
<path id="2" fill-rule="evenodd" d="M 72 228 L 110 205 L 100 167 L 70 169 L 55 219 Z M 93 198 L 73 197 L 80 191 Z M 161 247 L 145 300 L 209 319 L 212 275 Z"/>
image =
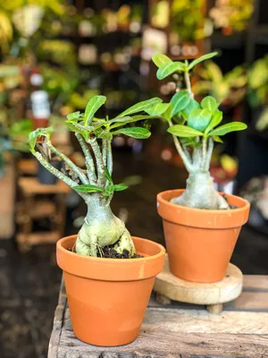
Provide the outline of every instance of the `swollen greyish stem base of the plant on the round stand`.
<path id="1" fill-rule="evenodd" d="M 214 180 L 208 171 L 190 173 L 185 192 L 172 199 L 173 204 L 198 209 L 229 209 L 229 205 L 214 188 Z"/>

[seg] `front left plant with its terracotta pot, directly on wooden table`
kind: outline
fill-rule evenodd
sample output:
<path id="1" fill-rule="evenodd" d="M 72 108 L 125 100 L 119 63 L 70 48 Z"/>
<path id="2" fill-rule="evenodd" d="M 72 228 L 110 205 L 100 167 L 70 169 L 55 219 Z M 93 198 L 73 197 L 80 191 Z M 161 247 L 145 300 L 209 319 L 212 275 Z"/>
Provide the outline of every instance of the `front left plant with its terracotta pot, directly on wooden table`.
<path id="1" fill-rule="evenodd" d="M 95 117 L 104 96 L 88 101 L 85 113 L 67 115 L 66 124 L 75 133 L 86 159 L 86 170 L 74 165 L 50 141 L 52 128 L 37 129 L 29 135 L 32 154 L 51 173 L 80 194 L 88 214 L 78 235 L 57 243 L 57 262 L 63 269 L 71 321 L 76 337 L 93 345 L 124 345 L 133 341 L 147 308 L 155 276 L 163 268 L 164 249 L 158 243 L 130 236 L 124 223 L 113 215 L 113 192 L 127 188 L 112 179 L 113 136 L 126 134 L 146 139 L 143 127 L 126 126 L 146 119 L 140 115 L 160 103 L 152 98 L 139 102 L 113 119 Z M 43 148 L 63 160 L 65 174 L 51 166 L 38 151 Z M 90 147 L 90 149 L 89 149 Z"/>

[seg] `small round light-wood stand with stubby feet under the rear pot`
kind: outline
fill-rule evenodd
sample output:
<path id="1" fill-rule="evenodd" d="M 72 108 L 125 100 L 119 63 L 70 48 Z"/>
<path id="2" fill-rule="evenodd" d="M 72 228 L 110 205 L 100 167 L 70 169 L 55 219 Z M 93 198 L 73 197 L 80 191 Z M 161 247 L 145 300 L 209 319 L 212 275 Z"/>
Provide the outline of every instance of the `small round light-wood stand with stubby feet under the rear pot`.
<path id="1" fill-rule="evenodd" d="M 202 304 L 210 313 L 221 313 L 222 303 L 228 303 L 238 298 L 242 291 L 242 285 L 242 272 L 231 263 L 222 281 L 214 284 L 185 281 L 172 275 L 168 255 L 166 255 L 163 271 L 155 279 L 154 290 L 158 303 L 167 305 L 172 301 L 179 301 Z"/>

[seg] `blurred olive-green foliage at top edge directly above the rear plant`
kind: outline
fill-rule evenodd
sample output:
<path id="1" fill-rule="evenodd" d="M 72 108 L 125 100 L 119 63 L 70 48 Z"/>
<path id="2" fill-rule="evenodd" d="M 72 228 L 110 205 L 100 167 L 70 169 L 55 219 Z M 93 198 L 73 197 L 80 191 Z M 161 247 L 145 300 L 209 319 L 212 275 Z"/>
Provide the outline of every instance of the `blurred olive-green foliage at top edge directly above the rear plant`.
<path id="1" fill-rule="evenodd" d="M 178 33 L 182 41 L 204 38 L 204 5 L 204 0 L 172 1 L 172 31 Z"/>

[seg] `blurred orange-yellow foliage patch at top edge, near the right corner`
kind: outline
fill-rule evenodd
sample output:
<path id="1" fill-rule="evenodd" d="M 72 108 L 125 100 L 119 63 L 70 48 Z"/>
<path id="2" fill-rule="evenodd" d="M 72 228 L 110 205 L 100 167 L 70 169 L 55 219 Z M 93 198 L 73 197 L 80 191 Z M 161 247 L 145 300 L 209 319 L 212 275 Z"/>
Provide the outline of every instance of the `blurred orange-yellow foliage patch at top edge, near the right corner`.
<path id="1" fill-rule="evenodd" d="M 216 0 L 210 10 L 215 28 L 243 31 L 254 11 L 253 0 Z"/>

